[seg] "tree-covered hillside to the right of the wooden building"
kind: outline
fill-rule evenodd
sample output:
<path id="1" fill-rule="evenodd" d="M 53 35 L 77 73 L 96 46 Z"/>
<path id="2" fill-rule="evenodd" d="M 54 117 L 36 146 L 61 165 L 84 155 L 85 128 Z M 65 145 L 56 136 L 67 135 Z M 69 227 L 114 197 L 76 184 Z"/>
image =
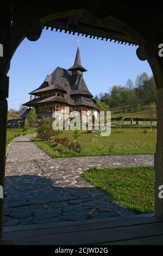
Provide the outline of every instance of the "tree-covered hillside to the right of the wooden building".
<path id="1" fill-rule="evenodd" d="M 109 90 L 109 89 L 108 89 Z M 114 117 L 148 117 L 151 108 L 156 109 L 156 86 L 154 77 L 146 72 L 130 78 L 125 86 L 115 85 L 109 92 L 101 92 L 95 96 L 99 110 L 111 110 Z"/>

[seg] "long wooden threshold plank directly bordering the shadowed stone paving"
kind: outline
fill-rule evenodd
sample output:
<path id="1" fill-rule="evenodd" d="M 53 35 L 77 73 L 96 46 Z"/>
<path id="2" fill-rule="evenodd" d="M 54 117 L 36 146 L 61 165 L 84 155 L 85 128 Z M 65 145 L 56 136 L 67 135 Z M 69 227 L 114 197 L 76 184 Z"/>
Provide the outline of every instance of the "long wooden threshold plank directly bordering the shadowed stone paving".
<path id="1" fill-rule="evenodd" d="M 45 235 L 45 234 L 61 234 L 76 231 L 88 231 L 106 228 L 118 228 L 123 225 L 130 226 L 136 224 L 148 224 L 148 223 L 158 223 L 162 220 L 157 219 L 153 214 L 141 214 L 132 215 L 125 217 L 109 217 L 97 220 L 83 220 L 83 221 L 67 221 L 55 222 L 55 223 L 43 223 L 43 224 L 28 224 L 28 225 L 15 225 L 15 226 L 5 226 L 4 234 L 5 237 L 12 240 L 13 237 L 29 236 L 32 235 Z"/>

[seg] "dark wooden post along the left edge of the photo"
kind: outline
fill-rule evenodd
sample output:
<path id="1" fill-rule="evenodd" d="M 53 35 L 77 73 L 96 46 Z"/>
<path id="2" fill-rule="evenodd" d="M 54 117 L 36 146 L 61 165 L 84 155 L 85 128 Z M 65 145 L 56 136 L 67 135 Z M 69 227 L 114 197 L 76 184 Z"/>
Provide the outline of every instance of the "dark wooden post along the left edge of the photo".
<path id="1" fill-rule="evenodd" d="M 0 197 L 0 243 L 3 236 L 3 214 L 4 214 L 4 178 L 5 157 L 7 142 L 7 115 L 9 78 L 7 72 L 10 66 L 10 40 L 11 40 L 11 13 L 0 10 L 0 42 L 3 45 L 3 57 L 0 57 L 0 186 L 2 194 Z"/>

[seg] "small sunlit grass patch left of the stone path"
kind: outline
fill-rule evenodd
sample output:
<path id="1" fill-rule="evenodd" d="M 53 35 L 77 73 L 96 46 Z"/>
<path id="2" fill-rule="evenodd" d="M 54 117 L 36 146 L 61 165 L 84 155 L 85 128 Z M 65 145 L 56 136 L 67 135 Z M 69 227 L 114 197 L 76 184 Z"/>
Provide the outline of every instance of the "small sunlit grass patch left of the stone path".
<path id="1" fill-rule="evenodd" d="M 21 135 L 27 135 L 29 133 L 34 133 L 35 128 L 29 127 L 27 131 L 24 131 L 22 128 L 17 128 L 17 129 L 7 129 L 7 146 L 10 144 L 12 139 L 21 136 Z"/>

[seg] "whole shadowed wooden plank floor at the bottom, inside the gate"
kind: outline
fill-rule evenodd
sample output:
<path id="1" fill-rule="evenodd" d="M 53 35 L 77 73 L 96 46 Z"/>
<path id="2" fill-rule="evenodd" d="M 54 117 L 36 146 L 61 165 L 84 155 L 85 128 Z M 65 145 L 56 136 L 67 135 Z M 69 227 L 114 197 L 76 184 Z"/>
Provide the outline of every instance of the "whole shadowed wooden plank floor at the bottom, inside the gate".
<path id="1" fill-rule="evenodd" d="M 117 218 L 115 220 L 108 218 L 102 225 L 99 220 L 96 220 L 94 227 L 89 221 L 86 221 L 84 227 L 83 225 L 82 221 L 79 224 L 62 223 L 60 227 L 56 228 L 53 225 L 52 229 L 42 229 L 39 225 L 39 229 L 14 232 L 5 238 L 13 240 L 15 245 L 99 245 L 135 240 L 140 237 L 150 240 L 151 236 L 155 236 L 153 241 L 155 245 L 156 237 L 163 236 L 163 222 L 148 218 L 142 218 L 140 221 L 137 218 L 128 221 L 128 217 L 118 217 L 118 220 Z"/>

